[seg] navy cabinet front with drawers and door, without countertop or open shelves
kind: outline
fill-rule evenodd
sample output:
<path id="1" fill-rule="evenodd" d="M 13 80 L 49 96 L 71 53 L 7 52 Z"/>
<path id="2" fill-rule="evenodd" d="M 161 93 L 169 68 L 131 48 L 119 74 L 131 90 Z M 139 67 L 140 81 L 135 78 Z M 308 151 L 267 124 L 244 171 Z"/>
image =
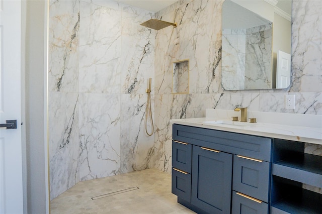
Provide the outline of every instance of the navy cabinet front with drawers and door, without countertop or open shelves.
<path id="1" fill-rule="evenodd" d="M 271 146 L 271 138 L 174 124 L 172 192 L 197 213 L 268 213 Z"/>

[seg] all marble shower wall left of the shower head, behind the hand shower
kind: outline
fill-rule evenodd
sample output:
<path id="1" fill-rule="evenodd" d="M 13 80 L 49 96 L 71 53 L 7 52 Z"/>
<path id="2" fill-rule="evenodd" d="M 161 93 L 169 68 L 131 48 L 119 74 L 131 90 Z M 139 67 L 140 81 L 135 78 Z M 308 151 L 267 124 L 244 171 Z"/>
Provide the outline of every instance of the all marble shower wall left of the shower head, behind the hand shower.
<path id="1" fill-rule="evenodd" d="M 153 168 L 144 119 L 155 32 L 139 25 L 153 14 L 78 0 L 51 1 L 49 14 L 51 199 L 78 181 Z"/>

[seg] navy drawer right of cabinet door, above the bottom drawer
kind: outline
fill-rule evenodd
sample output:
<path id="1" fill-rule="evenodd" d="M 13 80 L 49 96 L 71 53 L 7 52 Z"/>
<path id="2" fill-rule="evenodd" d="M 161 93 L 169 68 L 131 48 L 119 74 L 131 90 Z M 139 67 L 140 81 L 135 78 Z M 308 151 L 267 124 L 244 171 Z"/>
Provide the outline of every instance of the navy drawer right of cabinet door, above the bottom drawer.
<path id="1" fill-rule="evenodd" d="M 239 155 L 233 156 L 233 190 L 268 202 L 269 181 L 269 162 Z"/>

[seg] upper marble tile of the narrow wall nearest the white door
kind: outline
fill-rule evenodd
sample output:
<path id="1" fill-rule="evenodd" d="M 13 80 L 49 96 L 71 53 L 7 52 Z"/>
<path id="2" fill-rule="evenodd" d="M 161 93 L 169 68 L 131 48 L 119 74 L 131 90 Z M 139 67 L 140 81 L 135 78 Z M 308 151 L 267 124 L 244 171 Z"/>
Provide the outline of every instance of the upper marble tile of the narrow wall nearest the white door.
<path id="1" fill-rule="evenodd" d="M 79 1 L 49 2 L 49 91 L 78 90 Z"/>

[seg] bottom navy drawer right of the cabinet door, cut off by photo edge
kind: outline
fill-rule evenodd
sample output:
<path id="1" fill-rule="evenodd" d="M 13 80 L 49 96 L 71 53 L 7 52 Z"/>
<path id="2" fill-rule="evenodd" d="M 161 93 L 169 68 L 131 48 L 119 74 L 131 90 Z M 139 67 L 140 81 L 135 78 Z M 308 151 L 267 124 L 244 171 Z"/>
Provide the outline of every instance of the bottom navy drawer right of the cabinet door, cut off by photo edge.
<path id="1" fill-rule="evenodd" d="M 231 213 L 234 214 L 264 214 L 269 211 L 267 203 L 235 191 L 232 191 L 231 202 Z"/>

